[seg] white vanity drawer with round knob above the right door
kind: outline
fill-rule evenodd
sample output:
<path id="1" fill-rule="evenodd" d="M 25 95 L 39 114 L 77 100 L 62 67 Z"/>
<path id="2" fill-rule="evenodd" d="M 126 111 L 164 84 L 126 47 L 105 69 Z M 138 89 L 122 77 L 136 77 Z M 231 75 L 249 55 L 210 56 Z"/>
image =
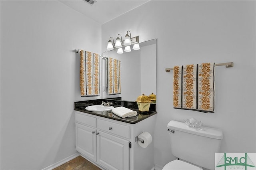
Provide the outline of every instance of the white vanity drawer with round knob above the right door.
<path id="1" fill-rule="evenodd" d="M 125 125 L 120 125 L 113 122 L 104 121 L 98 119 L 98 129 L 104 130 L 106 132 L 116 134 L 125 138 L 130 138 L 130 127 Z"/>

